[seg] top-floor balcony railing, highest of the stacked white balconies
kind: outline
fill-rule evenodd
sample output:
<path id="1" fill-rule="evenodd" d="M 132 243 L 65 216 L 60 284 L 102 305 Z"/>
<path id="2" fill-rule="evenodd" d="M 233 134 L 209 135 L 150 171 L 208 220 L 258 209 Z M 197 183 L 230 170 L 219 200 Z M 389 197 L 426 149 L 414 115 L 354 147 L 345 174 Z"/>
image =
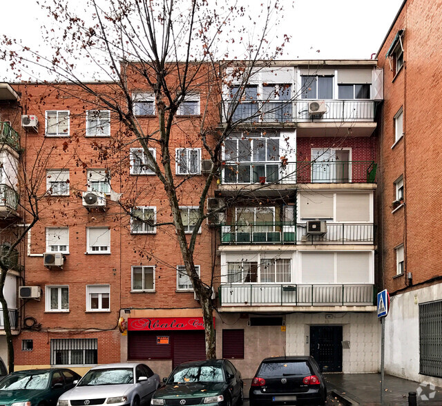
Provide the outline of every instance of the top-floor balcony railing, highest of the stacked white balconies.
<path id="1" fill-rule="evenodd" d="M 309 103 L 296 101 L 242 101 L 233 112 L 233 122 L 374 122 L 374 100 L 324 100 L 325 113 L 311 115 Z"/>

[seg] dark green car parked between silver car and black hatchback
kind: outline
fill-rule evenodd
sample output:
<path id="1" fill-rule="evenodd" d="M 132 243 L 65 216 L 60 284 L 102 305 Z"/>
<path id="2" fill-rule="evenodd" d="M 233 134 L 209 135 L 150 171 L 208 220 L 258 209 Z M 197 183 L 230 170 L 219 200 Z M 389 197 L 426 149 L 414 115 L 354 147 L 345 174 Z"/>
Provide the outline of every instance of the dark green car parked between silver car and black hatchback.
<path id="1" fill-rule="evenodd" d="M 229 360 L 183 363 L 173 369 L 151 405 L 241 405 L 244 399 L 240 371 Z"/>

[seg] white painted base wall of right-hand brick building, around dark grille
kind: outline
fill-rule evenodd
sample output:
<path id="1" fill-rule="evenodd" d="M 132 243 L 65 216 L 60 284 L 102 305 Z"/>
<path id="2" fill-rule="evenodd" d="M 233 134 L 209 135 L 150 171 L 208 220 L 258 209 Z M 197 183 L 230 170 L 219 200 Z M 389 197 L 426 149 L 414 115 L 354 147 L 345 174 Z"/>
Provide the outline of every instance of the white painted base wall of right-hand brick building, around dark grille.
<path id="1" fill-rule="evenodd" d="M 442 386 L 442 378 L 419 374 L 419 303 L 441 300 L 442 284 L 393 296 L 385 318 L 385 372 Z"/>

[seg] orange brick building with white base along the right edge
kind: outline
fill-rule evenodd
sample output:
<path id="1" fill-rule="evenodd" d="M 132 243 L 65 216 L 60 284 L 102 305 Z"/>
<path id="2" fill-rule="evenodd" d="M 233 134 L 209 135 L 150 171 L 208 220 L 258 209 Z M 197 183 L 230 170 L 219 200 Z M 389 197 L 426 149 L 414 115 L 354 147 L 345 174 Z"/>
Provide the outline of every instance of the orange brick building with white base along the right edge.
<path id="1" fill-rule="evenodd" d="M 403 2 L 378 51 L 384 71 L 379 142 L 379 269 L 390 292 L 385 370 L 441 385 L 442 90 L 440 4 Z M 425 84 L 424 84 L 425 82 Z M 435 106 L 436 108 L 432 108 Z"/>

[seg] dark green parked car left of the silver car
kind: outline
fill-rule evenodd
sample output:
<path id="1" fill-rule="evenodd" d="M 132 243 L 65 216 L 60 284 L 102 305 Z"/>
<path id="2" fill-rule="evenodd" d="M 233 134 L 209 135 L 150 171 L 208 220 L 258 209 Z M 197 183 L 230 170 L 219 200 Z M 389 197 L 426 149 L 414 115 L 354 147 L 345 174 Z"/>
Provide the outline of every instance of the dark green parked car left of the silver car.
<path id="1" fill-rule="evenodd" d="M 79 378 L 66 368 L 12 372 L 0 382 L 0 404 L 55 406 L 59 396 L 72 389 Z"/>

